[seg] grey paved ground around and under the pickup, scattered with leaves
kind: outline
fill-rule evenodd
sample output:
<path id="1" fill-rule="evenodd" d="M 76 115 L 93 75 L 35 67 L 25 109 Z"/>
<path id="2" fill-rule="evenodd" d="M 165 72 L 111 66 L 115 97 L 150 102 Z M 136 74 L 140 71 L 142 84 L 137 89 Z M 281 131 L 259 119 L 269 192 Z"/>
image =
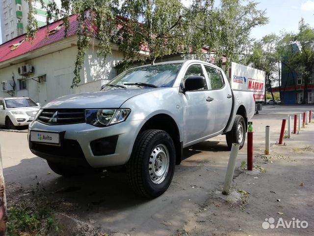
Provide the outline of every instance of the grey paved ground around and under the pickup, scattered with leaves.
<path id="1" fill-rule="evenodd" d="M 232 183 L 241 194 L 237 202 L 223 200 L 220 194 L 230 153 L 224 136 L 184 148 L 186 159 L 176 167 L 169 189 L 146 200 L 133 194 L 124 174 L 60 177 L 28 150 L 26 133 L 0 131 L 8 196 L 23 196 L 38 183 L 48 198 L 59 202 L 60 211 L 114 236 L 312 236 L 314 123 L 285 139 L 285 146 L 276 145 L 281 120 L 310 109 L 314 107 L 265 106 L 254 116 L 254 164 L 261 167 L 253 173 L 241 170 L 247 147 L 239 151 Z M 266 125 L 271 130 L 268 156 L 263 155 Z M 262 224 L 270 217 L 275 226 L 281 217 L 307 221 L 308 227 L 265 230 Z"/>

